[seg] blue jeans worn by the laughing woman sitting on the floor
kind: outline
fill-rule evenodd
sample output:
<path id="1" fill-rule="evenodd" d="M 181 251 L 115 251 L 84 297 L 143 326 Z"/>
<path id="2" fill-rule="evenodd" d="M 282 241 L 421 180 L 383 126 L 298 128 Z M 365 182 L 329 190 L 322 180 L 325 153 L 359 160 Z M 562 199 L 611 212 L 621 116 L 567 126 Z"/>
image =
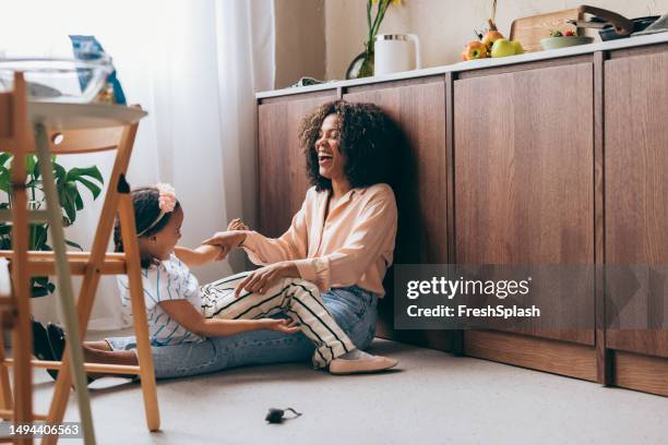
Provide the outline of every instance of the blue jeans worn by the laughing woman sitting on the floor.
<path id="1" fill-rule="evenodd" d="M 371 345 L 375 334 L 378 298 L 358 287 L 322 293 L 327 310 L 358 349 Z M 134 337 L 107 338 L 115 350 L 136 347 Z M 315 346 L 303 334 L 253 330 L 203 341 L 153 347 L 156 378 L 184 377 L 237 366 L 310 362 Z"/>

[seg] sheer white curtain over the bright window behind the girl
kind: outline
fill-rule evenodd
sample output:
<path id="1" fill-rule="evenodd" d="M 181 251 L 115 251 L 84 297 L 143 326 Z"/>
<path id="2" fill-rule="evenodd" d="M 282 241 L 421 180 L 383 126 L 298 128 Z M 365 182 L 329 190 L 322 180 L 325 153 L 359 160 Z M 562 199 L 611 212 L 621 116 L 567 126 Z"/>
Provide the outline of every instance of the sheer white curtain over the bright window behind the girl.
<path id="1" fill-rule="evenodd" d="M 253 94 L 273 88 L 273 0 L 23 0 L 2 15 L 0 53 L 8 57 L 71 57 L 71 34 L 102 43 L 128 103 L 148 111 L 129 181 L 175 185 L 186 213 L 183 245 L 198 245 L 234 217 L 254 224 Z M 59 158 L 65 167 L 97 165 L 106 178 L 112 160 L 112 153 Z M 90 249 L 103 200 L 82 195 L 85 209 L 67 236 Z M 237 256 L 194 273 L 207 282 L 242 267 Z M 53 296 L 33 301 L 43 321 L 58 321 L 57 306 Z M 127 323 L 115 279 L 105 277 L 90 328 Z"/>

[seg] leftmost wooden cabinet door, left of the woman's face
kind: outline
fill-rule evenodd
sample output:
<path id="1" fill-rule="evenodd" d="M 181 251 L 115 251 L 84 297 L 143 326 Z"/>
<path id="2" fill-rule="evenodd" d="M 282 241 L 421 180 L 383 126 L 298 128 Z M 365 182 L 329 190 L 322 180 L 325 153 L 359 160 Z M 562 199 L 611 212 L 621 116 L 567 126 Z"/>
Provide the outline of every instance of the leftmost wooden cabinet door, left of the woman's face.
<path id="1" fill-rule="evenodd" d="M 309 189 L 299 146 L 301 119 L 335 95 L 282 98 L 258 106 L 259 231 L 278 237 L 290 226 Z"/>

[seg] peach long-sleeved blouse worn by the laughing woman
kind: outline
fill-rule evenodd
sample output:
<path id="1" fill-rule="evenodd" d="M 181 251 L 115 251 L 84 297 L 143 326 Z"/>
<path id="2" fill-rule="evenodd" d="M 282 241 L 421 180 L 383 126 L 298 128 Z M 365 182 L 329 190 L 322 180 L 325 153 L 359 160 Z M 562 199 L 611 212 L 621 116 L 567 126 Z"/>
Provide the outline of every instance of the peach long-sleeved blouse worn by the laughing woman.
<path id="1" fill-rule="evenodd" d="M 330 192 L 308 190 L 290 228 L 270 239 L 248 231 L 241 246 L 254 264 L 294 261 L 301 278 L 321 291 L 358 286 L 382 297 L 383 277 L 392 264 L 396 202 L 387 184 L 351 189 L 330 208 Z"/>

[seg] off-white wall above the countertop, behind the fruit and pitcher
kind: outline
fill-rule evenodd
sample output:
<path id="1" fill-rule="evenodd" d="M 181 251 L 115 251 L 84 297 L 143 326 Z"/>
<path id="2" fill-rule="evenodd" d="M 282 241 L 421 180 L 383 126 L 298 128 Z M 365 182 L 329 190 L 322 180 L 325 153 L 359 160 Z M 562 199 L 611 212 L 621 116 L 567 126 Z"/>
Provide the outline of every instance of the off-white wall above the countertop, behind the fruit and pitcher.
<path id="1" fill-rule="evenodd" d="M 583 0 L 498 0 L 497 24 L 508 36 L 514 19 L 576 8 Z M 587 0 L 629 19 L 668 13 L 668 0 Z M 424 67 L 460 61 L 464 46 L 485 27 L 492 0 L 404 0 L 392 5 L 381 33 L 415 33 L 420 37 Z M 325 0 L 325 75 L 344 79 L 350 60 L 363 50 L 367 35 L 366 1 Z"/>

